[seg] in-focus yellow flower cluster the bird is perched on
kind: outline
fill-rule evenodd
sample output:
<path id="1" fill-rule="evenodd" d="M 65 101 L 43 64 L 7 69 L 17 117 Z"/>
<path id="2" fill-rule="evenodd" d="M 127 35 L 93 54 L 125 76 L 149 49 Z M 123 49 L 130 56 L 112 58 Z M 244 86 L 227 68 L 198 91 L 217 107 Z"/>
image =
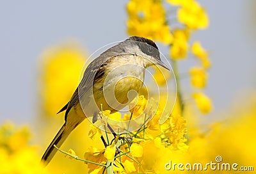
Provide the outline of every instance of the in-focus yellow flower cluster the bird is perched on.
<path id="1" fill-rule="evenodd" d="M 143 114 L 143 112 L 145 112 L 143 110 L 148 104 L 155 104 L 149 103 L 144 96 L 139 96 L 138 99 L 134 101 L 136 101 L 136 105 L 130 109 L 132 119 Z M 102 166 L 103 164 L 107 164 L 107 161 L 113 161 L 112 167 L 115 173 L 164 172 L 164 168 L 161 164 L 166 162 L 166 155 L 161 153 L 166 152 L 169 155 L 173 155 L 186 153 L 188 151 L 186 138 L 184 138 L 187 132 L 186 120 L 180 116 L 178 106 L 175 106 L 174 110 L 168 120 L 160 125 L 159 119 L 163 114 L 163 106 L 159 105 L 156 112 L 150 111 L 147 113 L 152 119 L 139 130 L 127 133 L 128 136 L 120 135 L 120 138 L 114 139 L 111 145 L 107 146 L 106 149 L 99 150 L 94 147 L 88 148 L 84 158 L 88 161 L 98 163 L 92 164 L 86 162 L 90 169 L 89 173 L 102 173 L 108 168 Z M 154 115 L 150 116 L 150 113 L 154 113 Z M 103 111 L 102 114 L 113 120 L 122 121 L 127 120 L 127 118 L 130 119 L 130 115 L 125 115 L 122 118 L 120 113 L 110 114 L 110 111 Z M 96 130 L 96 128 L 92 126 L 89 135 L 92 135 L 92 132 L 98 131 L 100 131 L 100 129 Z M 93 135 L 96 135 L 96 133 Z M 132 138 L 131 144 L 125 139 L 129 137 Z M 94 136 L 92 138 L 94 138 Z M 159 153 L 159 151 L 161 153 Z M 159 161 L 161 162 L 159 163 Z"/>

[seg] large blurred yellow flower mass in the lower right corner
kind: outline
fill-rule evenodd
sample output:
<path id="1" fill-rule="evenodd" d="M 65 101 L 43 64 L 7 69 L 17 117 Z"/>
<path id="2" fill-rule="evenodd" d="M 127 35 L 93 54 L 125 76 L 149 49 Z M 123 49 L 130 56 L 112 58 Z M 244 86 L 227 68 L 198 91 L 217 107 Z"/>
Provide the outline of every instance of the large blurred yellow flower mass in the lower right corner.
<path id="1" fill-rule="evenodd" d="M 232 111 L 225 111 L 224 122 L 211 123 L 207 131 L 194 128 L 189 132 L 191 140 L 189 143 L 189 154 L 184 162 L 207 162 L 214 161 L 217 155 L 223 159 L 220 164 L 229 163 L 230 166 L 236 162 L 240 170 L 241 166 L 252 166 L 255 170 L 256 140 L 253 138 L 255 130 L 255 104 L 256 97 L 252 95 L 242 102 L 239 100 L 238 107 L 232 107 Z M 191 118 L 195 120 L 195 118 Z M 193 123 L 193 122 L 192 122 Z M 194 125 L 195 126 L 195 125 Z M 236 171 L 223 171 L 224 173 L 236 173 Z M 246 171 L 239 171 L 246 173 Z M 252 171 L 248 171 L 248 173 Z M 214 170 L 207 170 L 207 173 L 216 173 Z"/>

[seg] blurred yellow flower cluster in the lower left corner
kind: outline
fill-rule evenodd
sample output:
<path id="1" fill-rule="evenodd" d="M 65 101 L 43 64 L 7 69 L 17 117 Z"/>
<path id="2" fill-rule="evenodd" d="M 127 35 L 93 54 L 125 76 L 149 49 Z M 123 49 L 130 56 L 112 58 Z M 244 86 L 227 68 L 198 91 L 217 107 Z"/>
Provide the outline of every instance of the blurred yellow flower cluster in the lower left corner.
<path id="1" fill-rule="evenodd" d="M 12 123 L 0 127 L 0 173 L 42 173 L 43 166 L 35 146 L 28 145 L 28 127 L 17 128 Z"/>

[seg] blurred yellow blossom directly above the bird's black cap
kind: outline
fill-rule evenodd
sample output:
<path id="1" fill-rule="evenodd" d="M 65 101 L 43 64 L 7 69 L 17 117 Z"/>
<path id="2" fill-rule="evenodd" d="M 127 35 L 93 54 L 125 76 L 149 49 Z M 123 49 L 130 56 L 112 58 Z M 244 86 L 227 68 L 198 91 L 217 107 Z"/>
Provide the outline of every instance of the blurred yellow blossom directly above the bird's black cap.
<path id="1" fill-rule="evenodd" d="M 127 4 L 127 33 L 143 36 L 163 43 L 172 42 L 170 27 L 166 24 L 165 12 L 161 1 L 131 0 Z"/>

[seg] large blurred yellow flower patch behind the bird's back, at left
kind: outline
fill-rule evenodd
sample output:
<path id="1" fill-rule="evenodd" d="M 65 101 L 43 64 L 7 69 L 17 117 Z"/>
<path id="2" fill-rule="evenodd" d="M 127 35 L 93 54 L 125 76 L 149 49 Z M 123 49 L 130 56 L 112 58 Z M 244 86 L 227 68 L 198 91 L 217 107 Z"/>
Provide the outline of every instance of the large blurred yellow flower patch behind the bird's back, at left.
<path id="1" fill-rule="evenodd" d="M 56 115 L 76 90 L 86 54 L 74 44 L 47 49 L 40 63 L 40 94 L 46 115 Z"/>

